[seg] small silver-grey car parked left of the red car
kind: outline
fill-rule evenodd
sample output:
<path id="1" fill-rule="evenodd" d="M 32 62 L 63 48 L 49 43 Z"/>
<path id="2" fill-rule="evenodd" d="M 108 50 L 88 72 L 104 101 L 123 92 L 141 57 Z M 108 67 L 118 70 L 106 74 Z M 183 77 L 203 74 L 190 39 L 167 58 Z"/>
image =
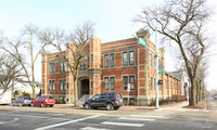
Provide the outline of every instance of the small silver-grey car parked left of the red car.
<path id="1" fill-rule="evenodd" d="M 24 106 L 24 105 L 30 105 L 31 99 L 27 96 L 18 96 L 15 100 L 12 101 L 12 105 L 18 105 L 18 106 Z"/>

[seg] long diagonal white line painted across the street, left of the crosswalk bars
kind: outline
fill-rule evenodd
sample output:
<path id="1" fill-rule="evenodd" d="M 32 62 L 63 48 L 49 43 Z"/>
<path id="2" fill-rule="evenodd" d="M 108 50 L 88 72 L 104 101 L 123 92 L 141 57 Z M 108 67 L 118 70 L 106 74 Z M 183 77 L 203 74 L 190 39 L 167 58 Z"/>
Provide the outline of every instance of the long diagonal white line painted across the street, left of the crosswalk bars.
<path id="1" fill-rule="evenodd" d="M 99 116 L 100 115 L 89 116 L 89 117 L 85 117 L 85 118 L 80 118 L 80 119 L 75 119 L 75 120 L 71 120 L 71 121 L 65 121 L 65 122 L 60 122 L 60 123 L 55 123 L 55 125 L 50 125 L 50 126 L 37 128 L 35 130 L 47 130 L 47 129 L 51 129 L 51 128 L 55 128 L 55 127 L 60 127 L 60 126 L 65 126 L 65 125 L 68 125 L 68 123 L 74 123 L 74 122 L 82 121 L 82 120 L 90 119 L 90 118 L 95 118 L 95 117 L 99 117 Z"/>

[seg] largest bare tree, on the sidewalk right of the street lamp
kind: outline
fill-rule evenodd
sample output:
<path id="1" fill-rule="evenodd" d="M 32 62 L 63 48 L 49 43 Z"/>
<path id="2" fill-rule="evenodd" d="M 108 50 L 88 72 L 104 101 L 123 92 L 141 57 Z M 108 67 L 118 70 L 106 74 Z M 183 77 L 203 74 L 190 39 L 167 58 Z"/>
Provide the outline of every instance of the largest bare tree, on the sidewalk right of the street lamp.
<path id="1" fill-rule="evenodd" d="M 135 22 L 141 22 L 152 30 L 156 29 L 163 35 L 164 41 L 178 46 L 191 80 L 190 105 L 194 106 L 196 77 L 207 44 L 207 37 L 203 34 L 204 25 L 210 15 L 206 0 L 169 0 L 159 8 L 146 11 L 149 16 L 139 14 Z"/>

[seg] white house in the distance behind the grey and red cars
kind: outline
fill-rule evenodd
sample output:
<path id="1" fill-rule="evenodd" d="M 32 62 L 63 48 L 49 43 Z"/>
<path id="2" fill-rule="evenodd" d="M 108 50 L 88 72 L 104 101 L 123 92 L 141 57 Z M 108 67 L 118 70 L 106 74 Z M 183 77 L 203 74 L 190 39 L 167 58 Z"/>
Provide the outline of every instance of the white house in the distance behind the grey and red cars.
<path id="1" fill-rule="evenodd" d="M 39 82 L 36 81 L 36 95 L 40 93 L 41 86 Z M 31 86 L 28 83 L 28 81 L 25 81 L 23 79 L 17 79 L 14 81 L 14 91 L 17 90 L 18 94 L 22 95 L 25 92 L 29 93 L 33 98 L 33 89 Z"/>

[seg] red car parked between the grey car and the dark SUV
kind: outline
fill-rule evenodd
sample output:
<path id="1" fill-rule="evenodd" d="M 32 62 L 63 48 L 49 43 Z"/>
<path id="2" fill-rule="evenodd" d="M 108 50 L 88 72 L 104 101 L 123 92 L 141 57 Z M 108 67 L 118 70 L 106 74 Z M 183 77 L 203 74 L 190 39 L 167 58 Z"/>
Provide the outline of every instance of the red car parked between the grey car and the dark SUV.
<path id="1" fill-rule="evenodd" d="M 52 95 L 41 95 L 36 98 L 36 100 L 33 100 L 30 103 L 30 106 L 40 106 L 40 107 L 44 107 L 44 106 L 50 106 L 53 107 L 53 105 L 55 104 L 55 100 Z"/>

